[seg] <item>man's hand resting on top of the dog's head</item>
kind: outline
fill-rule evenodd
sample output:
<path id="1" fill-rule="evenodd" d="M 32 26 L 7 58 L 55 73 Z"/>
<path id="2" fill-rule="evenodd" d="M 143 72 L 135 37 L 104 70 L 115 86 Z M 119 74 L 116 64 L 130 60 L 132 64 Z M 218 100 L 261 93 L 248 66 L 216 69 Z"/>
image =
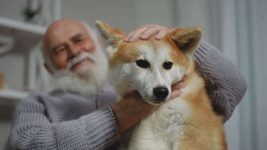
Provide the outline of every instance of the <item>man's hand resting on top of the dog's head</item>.
<path id="1" fill-rule="evenodd" d="M 156 39 L 162 39 L 165 35 L 170 32 L 175 31 L 174 28 L 168 26 L 161 26 L 161 25 L 145 25 L 140 28 L 135 29 L 133 32 L 127 35 L 124 38 L 126 42 L 134 42 L 137 39 L 148 39 L 151 35 L 156 34 Z"/>

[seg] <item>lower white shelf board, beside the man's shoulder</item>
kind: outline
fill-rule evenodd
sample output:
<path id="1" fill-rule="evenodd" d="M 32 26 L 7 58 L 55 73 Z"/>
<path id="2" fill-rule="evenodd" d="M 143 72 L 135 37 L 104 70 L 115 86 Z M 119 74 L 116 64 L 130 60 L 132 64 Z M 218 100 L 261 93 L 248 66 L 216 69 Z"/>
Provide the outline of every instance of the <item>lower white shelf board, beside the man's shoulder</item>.
<path id="1" fill-rule="evenodd" d="M 30 91 L 3 88 L 0 89 L 0 99 L 21 100 L 30 93 Z"/>

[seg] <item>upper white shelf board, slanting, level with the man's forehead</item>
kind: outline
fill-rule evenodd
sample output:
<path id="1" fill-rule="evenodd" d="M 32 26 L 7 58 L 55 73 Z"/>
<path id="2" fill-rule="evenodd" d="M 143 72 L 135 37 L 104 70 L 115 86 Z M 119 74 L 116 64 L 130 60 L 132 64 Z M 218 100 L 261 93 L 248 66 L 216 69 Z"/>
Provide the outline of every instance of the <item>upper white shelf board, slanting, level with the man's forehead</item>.
<path id="1" fill-rule="evenodd" d="M 32 34 L 44 35 L 46 27 L 37 24 L 30 24 L 14 19 L 0 17 L 0 26 L 5 28 L 16 29 L 18 31 L 30 32 Z"/>

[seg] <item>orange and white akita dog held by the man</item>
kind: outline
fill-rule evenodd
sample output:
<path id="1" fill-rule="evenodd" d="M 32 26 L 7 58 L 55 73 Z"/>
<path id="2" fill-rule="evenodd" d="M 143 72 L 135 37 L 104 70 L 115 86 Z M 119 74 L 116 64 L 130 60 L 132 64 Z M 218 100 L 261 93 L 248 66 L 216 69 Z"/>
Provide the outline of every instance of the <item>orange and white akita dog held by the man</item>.
<path id="1" fill-rule="evenodd" d="M 122 144 L 126 149 L 227 150 L 223 117 L 213 111 L 192 58 L 201 27 L 176 29 L 161 40 L 152 36 L 127 43 L 122 30 L 100 21 L 96 26 L 107 41 L 109 78 L 118 95 L 136 90 L 147 103 L 165 103 L 134 127 L 130 142 Z M 182 94 L 168 102 L 171 86 L 185 75 Z"/>

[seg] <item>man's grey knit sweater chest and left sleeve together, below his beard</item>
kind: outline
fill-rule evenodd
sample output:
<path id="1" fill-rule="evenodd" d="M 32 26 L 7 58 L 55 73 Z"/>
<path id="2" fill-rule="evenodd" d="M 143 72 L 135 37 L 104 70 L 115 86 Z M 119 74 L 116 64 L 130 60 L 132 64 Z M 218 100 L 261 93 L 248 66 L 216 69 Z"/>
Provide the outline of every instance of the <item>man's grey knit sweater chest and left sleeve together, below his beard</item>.
<path id="1" fill-rule="evenodd" d="M 97 97 L 109 105 L 116 99 L 114 91 Z M 14 113 L 10 149 L 105 150 L 119 140 L 119 132 L 108 107 L 96 110 L 95 103 L 96 97 L 63 91 L 29 95 Z"/>

